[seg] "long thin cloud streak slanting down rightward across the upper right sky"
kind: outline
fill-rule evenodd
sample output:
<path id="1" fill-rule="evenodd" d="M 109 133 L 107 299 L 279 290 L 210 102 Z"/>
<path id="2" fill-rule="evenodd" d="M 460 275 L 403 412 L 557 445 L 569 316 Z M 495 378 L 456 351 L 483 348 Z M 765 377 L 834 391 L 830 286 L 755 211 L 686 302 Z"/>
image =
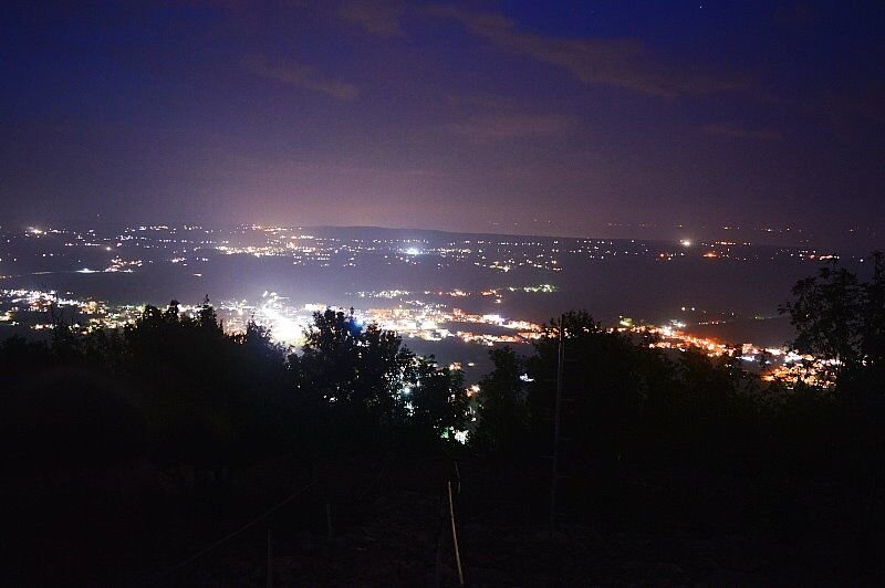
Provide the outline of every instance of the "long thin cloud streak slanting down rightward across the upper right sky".
<path id="1" fill-rule="evenodd" d="M 740 76 L 701 74 L 655 57 L 633 39 L 559 39 L 520 31 L 501 14 L 466 11 L 450 6 L 427 9 L 454 19 L 494 48 L 562 67 L 585 84 L 602 84 L 652 96 L 675 97 L 718 91 L 748 90 Z"/>

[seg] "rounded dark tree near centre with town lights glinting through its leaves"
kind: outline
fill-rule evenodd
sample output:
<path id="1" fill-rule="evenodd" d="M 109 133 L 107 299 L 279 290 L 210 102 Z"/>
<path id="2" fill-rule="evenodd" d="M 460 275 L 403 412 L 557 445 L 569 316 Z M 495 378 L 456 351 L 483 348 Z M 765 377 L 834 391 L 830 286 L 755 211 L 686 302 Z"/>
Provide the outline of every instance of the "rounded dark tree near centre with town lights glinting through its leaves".
<path id="1" fill-rule="evenodd" d="M 289 357 L 289 372 L 295 401 L 325 447 L 377 448 L 397 435 L 438 447 L 451 440 L 467 411 L 459 374 L 341 311 L 314 313 L 302 354 Z"/>

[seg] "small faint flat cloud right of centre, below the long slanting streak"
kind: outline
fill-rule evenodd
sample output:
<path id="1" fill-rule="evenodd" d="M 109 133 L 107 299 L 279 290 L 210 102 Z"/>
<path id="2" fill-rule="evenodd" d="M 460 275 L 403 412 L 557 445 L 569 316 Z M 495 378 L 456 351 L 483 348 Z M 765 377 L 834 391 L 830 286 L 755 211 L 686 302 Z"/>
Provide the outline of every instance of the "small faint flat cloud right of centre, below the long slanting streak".
<path id="1" fill-rule="evenodd" d="M 561 136 L 574 120 L 558 114 L 490 113 L 475 115 L 461 123 L 450 123 L 450 133 L 476 143 L 502 139 Z"/>

